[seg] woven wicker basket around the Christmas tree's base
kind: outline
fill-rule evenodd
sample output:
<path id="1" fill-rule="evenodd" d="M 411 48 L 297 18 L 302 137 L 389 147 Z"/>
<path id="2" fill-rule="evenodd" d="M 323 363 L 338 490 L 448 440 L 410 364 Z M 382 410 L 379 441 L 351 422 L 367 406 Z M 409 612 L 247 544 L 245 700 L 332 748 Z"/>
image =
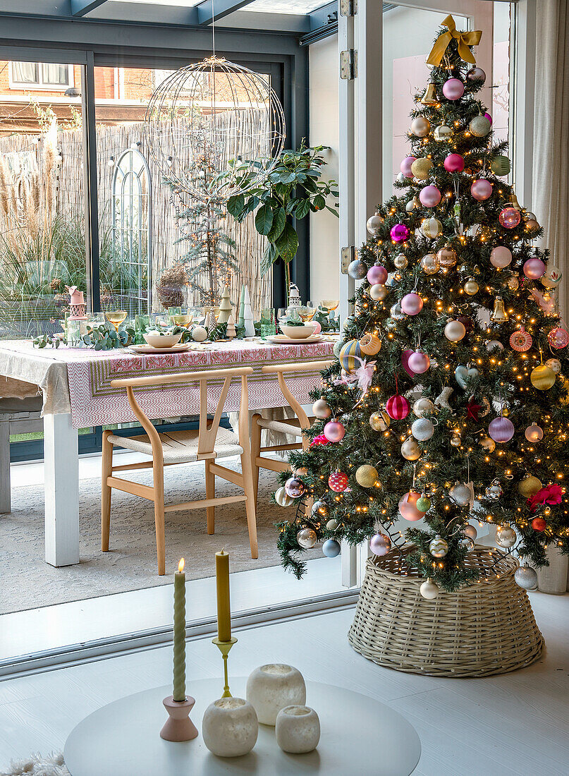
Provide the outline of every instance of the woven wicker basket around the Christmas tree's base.
<path id="1" fill-rule="evenodd" d="M 543 636 L 514 580 L 515 558 L 477 547 L 467 565 L 482 572 L 481 581 L 429 601 L 405 563 L 410 549 L 367 561 L 348 634 L 354 650 L 381 666 L 429 676 L 505 674 L 537 660 Z"/>

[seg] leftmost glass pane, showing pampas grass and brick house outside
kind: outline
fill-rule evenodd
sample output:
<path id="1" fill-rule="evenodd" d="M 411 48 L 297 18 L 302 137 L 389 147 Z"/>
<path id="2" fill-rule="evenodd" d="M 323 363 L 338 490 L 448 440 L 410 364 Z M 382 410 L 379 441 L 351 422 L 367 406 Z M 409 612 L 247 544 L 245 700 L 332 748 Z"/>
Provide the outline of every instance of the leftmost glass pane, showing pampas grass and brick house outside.
<path id="1" fill-rule="evenodd" d="M 2 67 L 4 65 L 4 67 Z M 7 72 L 8 63 L 0 63 Z M 38 65 L 12 63 L 18 78 Z M 49 65 L 65 69 L 67 65 Z M 81 67 L 75 80 L 81 83 Z M 53 96 L 57 95 L 57 100 Z M 5 89 L 0 103 L 0 339 L 62 332 L 86 291 L 81 100 L 58 89 Z"/>

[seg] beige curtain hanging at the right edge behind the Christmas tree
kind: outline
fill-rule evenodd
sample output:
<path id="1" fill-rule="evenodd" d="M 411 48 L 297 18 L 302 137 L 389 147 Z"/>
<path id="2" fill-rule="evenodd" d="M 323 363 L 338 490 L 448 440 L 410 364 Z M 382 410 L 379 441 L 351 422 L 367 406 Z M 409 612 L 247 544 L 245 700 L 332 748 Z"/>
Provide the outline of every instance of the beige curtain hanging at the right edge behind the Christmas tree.
<path id="1" fill-rule="evenodd" d="M 536 26 L 536 109 L 533 206 L 543 245 L 564 273 L 560 313 L 569 310 L 569 9 L 567 0 L 540 0 Z"/>

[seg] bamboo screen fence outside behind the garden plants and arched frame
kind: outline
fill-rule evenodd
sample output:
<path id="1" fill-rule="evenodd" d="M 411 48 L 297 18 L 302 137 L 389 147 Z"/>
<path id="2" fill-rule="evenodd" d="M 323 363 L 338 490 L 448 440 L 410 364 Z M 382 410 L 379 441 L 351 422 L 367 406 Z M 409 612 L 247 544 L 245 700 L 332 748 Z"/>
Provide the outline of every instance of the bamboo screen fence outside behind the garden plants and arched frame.
<path id="1" fill-rule="evenodd" d="M 43 136 L 42 136 L 43 137 Z M 30 135 L 13 135 L 0 138 L 0 155 L 11 171 L 12 185 L 18 191 L 22 178 L 30 174 L 50 175 L 44 170 L 44 158 L 40 144 L 34 143 Z M 84 211 L 83 190 L 83 151 L 81 129 L 60 130 L 57 133 L 57 149 L 60 161 L 56 166 L 55 209 L 64 218 L 81 217 Z M 165 185 L 160 172 L 153 164 L 145 147 L 142 123 L 122 123 L 117 126 L 97 127 L 97 179 L 98 211 L 100 234 L 110 234 L 112 230 L 112 175 L 113 167 L 109 161 L 119 158 L 122 151 L 136 147 L 147 159 L 151 178 L 152 233 L 151 279 L 153 307 L 158 305 L 156 285 L 160 274 L 167 267 L 179 261 L 184 253 L 184 244 L 177 244 L 181 236 L 174 217 L 174 207 L 170 202 L 170 187 Z M 0 213 L 0 230 L 5 231 Z M 230 280 L 231 299 L 236 307 L 240 286 L 245 283 L 250 289 L 253 314 L 259 317 L 263 307 L 271 305 L 271 276 L 260 276 L 260 258 L 264 251 L 265 238 L 257 234 L 253 217 L 241 223 L 228 217 L 222 227 L 226 234 L 236 242 L 236 263 L 239 273 Z M 199 300 L 188 298 L 189 304 L 198 304 Z"/>

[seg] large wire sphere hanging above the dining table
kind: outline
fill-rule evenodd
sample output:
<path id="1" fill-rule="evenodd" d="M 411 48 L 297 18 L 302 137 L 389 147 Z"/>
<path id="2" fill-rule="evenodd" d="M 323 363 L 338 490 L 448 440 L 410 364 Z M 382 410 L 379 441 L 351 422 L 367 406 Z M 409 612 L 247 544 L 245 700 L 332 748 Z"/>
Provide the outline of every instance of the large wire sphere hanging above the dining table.
<path id="1" fill-rule="evenodd" d="M 262 184 L 281 155 L 286 130 L 266 76 L 210 57 L 158 85 L 144 132 L 167 182 L 210 202 Z"/>

